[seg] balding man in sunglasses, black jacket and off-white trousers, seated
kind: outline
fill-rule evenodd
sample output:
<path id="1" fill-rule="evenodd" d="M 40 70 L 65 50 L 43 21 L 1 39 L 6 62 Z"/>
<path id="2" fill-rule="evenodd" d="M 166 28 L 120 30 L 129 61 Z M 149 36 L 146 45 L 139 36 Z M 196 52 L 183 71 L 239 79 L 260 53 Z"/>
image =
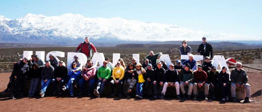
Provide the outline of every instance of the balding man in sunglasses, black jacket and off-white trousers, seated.
<path id="1" fill-rule="evenodd" d="M 166 71 L 162 78 L 162 82 L 165 82 L 162 90 L 162 94 L 160 99 L 164 99 L 166 95 L 166 89 L 167 87 L 175 87 L 176 88 L 176 95 L 177 99 L 181 99 L 180 93 L 179 93 L 179 83 L 178 83 L 178 72 L 176 69 L 174 69 L 174 65 L 170 64 L 169 69 Z"/>

